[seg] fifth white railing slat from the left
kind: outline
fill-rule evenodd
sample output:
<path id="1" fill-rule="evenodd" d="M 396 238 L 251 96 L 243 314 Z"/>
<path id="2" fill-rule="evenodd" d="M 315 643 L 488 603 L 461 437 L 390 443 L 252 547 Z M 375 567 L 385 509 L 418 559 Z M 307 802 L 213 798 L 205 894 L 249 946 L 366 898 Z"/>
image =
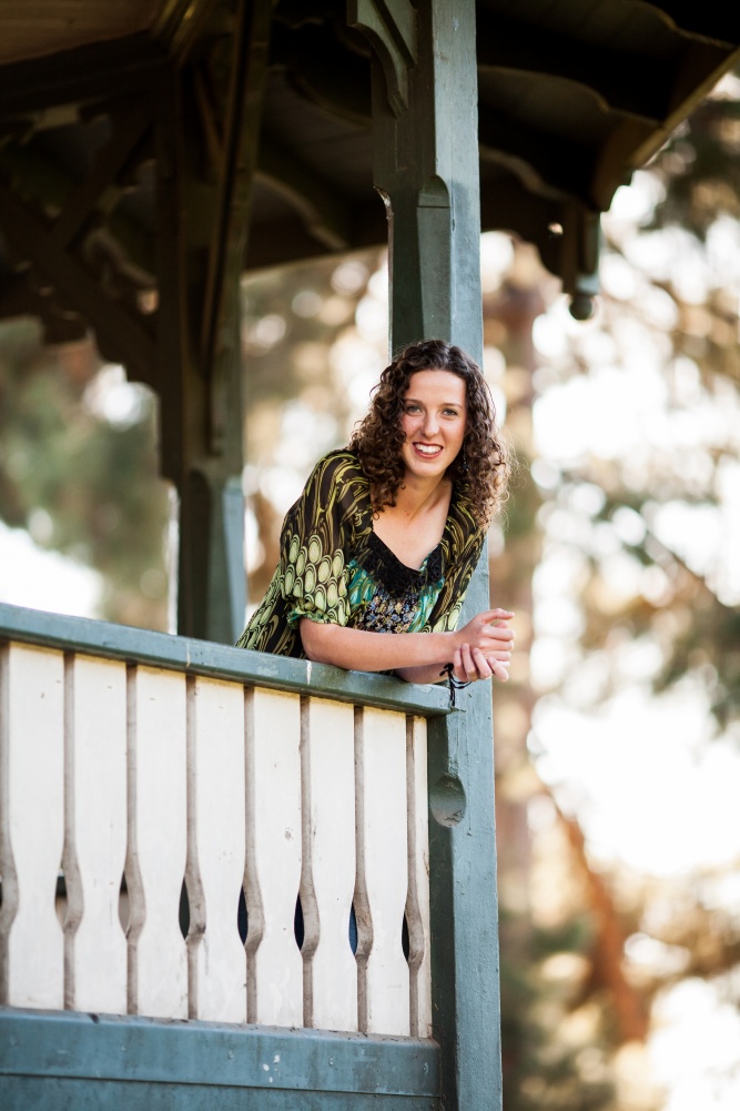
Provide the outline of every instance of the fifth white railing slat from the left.
<path id="1" fill-rule="evenodd" d="M 249 1021 L 300 1027 L 303 961 L 293 931 L 301 878 L 300 699 L 258 688 L 247 720 Z"/>

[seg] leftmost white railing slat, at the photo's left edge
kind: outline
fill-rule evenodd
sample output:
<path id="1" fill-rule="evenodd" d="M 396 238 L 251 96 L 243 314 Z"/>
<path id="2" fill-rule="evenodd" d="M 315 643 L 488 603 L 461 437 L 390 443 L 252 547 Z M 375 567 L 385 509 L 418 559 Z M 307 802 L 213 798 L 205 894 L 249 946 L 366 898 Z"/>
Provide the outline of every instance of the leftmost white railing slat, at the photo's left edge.
<path id="1" fill-rule="evenodd" d="M 61 1010 L 64 661 L 21 644 L 0 657 L 0 1003 Z"/>

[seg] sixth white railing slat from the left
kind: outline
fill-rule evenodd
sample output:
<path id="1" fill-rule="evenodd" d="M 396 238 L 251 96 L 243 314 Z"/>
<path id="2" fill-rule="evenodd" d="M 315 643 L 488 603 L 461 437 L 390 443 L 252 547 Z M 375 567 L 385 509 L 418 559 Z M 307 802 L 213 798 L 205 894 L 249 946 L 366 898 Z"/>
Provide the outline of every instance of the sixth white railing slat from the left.
<path id="1" fill-rule="evenodd" d="M 349 943 L 354 892 L 354 710 L 307 699 L 301 742 L 304 1022 L 357 1030 L 357 961 Z"/>

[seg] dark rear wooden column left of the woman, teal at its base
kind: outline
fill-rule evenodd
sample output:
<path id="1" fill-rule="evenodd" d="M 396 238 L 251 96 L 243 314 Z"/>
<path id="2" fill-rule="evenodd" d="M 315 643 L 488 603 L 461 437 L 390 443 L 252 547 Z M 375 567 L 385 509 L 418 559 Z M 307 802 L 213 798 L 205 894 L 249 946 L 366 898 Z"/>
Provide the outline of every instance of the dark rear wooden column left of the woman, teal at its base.
<path id="1" fill-rule="evenodd" d="M 236 6 L 222 103 L 198 67 L 173 68 L 160 98 L 158 378 L 162 471 L 180 498 L 178 632 L 222 643 L 244 623 L 240 278 L 270 13 L 270 0 Z"/>

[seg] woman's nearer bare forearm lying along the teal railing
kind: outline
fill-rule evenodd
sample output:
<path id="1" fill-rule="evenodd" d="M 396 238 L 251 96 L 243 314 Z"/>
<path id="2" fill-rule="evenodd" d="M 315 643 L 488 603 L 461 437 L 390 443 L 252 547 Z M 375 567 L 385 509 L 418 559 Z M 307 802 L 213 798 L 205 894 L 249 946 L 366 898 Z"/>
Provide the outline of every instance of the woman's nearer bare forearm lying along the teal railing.
<path id="1" fill-rule="evenodd" d="M 392 670 L 402 679 L 417 683 L 437 682 L 456 648 L 454 633 L 449 632 L 367 632 L 338 624 L 319 624 L 309 618 L 301 618 L 300 628 L 309 660 L 334 663 L 351 671 Z"/>

